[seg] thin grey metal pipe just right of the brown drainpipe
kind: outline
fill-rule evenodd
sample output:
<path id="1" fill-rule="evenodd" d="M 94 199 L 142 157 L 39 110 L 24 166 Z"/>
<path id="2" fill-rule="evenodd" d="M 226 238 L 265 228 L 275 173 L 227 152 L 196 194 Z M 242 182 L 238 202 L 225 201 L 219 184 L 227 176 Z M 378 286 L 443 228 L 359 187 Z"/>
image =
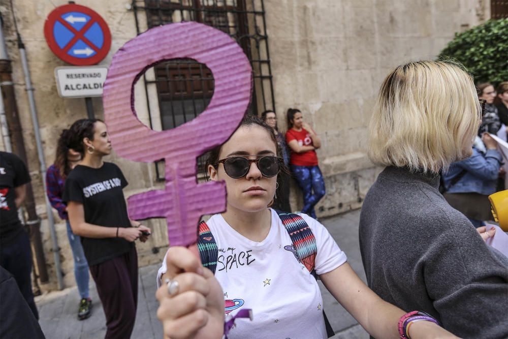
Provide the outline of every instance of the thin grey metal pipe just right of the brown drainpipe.
<path id="1" fill-rule="evenodd" d="M 34 125 L 34 134 L 37 143 L 37 153 L 39 155 L 39 163 L 41 164 L 41 176 L 44 193 L 46 190 L 46 161 L 44 159 L 44 150 L 42 149 L 42 138 L 39 130 L 39 118 L 37 117 L 37 109 L 34 100 L 34 87 L 32 86 L 30 79 L 30 71 L 28 70 L 28 61 L 26 59 L 25 46 L 21 40 L 21 36 L 18 34 L 18 48 L 19 55 L 21 58 L 21 66 L 23 67 L 23 73 L 25 75 L 26 93 L 28 94 L 28 103 L 30 105 L 30 116 Z M 53 256 L 55 259 L 55 271 L 56 278 L 58 280 L 58 289 L 63 289 L 62 271 L 60 265 L 60 248 L 58 247 L 58 240 L 56 238 L 55 221 L 53 219 L 53 210 L 48 200 L 47 194 L 44 194 L 44 200 L 46 201 L 46 214 L 48 216 L 49 231 L 51 234 L 51 242 L 53 245 Z"/>

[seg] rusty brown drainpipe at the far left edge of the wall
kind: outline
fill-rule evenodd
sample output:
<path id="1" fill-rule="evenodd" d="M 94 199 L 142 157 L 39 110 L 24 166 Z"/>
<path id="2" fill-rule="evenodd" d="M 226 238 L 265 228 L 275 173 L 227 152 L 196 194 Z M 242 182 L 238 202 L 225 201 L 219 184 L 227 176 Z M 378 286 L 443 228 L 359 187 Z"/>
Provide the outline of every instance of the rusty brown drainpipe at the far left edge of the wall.
<path id="1" fill-rule="evenodd" d="M 0 15 L 0 20 L 2 16 Z M 3 21 L 2 21 L 3 23 Z M 13 146 L 16 150 L 18 157 L 27 164 L 26 150 L 19 121 L 18 107 L 16 104 L 16 97 L 14 95 L 14 83 L 12 82 L 12 69 L 11 60 L 7 55 L 5 48 L 3 27 L 0 24 L 0 88 L 2 90 L 2 97 L 5 99 L 5 112 L 8 122 L 9 132 L 12 136 Z M 9 135 L 9 133 L 7 133 Z M 34 252 L 37 259 L 37 270 L 41 283 L 48 282 L 48 270 L 46 267 L 46 259 L 44 257 L 44 248 L 42 245 L 41 232 L 40 232 L 40 219 L 37 215 L 34 199 L 34 191 L 30 183 L 26 185 L 26 199 L 24 202 L 26 212 L 28 214 L 30 226 L 30 238 L 34 246 Z"/>

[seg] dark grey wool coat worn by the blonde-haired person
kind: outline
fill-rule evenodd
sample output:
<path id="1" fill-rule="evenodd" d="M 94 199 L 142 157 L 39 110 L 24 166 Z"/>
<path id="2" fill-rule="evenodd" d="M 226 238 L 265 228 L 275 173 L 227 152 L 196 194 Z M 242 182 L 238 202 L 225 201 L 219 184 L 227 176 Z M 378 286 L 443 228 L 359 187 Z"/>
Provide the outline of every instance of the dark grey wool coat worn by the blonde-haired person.
<path id="1" fill-rule="evenodd" d="M 360 215 L 369 287 L 461 338 L 508 338 L 508 258 L 438 191 L 439 175 L 387 167 Z"/>

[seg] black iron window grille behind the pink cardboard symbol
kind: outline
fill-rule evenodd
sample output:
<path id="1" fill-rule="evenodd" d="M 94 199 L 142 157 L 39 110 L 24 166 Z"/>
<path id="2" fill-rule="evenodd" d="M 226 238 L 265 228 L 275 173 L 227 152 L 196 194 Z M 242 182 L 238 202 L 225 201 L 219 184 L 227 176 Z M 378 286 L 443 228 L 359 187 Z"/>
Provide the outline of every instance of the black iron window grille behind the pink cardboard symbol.
<path id="1" fill-rule="evenodd" d="M 146 28 L 197 21 L 229 34 L 242 47 L 252 66 L 252 99 L 246 114 L 275 111 L 263 0 L 133 0 L 132 8 L 138 35 L 143 33 L 141 23 L 144 20 Z M 163 130 L 178 127 L 198 116 L 213 96 L 213 75 L 196 60 L 163 61 L 155 65 L 153 71 L 153 80 L 143 76 L 150 128 L 153 103 L 148 100 L 148 85 L 156 86 Z M 198 159 L 198 164 L 202 163 L 203 160 Z M 158 181 L 163 181 L 164 170 L 160 165 L 156 163 L 156 175 Z"/>

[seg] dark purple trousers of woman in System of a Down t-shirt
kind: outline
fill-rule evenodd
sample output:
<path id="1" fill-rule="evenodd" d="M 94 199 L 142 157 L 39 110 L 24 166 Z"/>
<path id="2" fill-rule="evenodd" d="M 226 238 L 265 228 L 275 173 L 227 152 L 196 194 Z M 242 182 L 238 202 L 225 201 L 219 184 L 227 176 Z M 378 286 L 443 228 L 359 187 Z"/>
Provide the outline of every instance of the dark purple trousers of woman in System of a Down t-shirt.
<path id="1" fill-rule="evenodd" d="M 138 254 L 128 253 L 90 266 L 106 315 L 106 339 L 131 337 L 138 306 Z"/>

